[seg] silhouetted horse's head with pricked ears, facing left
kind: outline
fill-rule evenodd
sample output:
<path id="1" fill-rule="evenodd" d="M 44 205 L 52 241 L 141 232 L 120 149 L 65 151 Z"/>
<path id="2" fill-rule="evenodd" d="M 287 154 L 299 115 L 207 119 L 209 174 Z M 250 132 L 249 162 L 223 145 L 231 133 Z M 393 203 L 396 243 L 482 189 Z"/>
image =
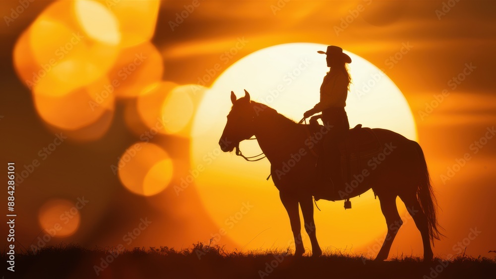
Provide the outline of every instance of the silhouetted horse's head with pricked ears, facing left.
<path id="1" fill-rule="evenodd" d="M 231 91 L 231 102 L 233 108 L 227 115 L 226 127 L 219 141 L 220 149 L 224 152 L 233 151 L 241 141 L 254 134 L 255 111 L 251 106 L 249 93 L 245 90 L 245 97 L 236 100 L 236 95 Z"/>

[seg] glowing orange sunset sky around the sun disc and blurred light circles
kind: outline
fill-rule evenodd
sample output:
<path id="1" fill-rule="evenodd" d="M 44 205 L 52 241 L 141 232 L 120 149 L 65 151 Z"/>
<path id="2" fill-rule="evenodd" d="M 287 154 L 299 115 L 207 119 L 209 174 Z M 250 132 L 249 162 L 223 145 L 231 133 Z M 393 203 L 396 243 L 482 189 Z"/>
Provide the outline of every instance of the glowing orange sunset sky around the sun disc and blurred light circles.
<path id="1" fill-rule="evenodd" d="M 0 158 L 2 162 L 15 161 L 19 167 L 38 158 L 39 150 L 54 140 L 57 131 L 39 118 L 31 93 L 19 81 L 11 62 L 17 38 L 51 2 L 35 1 L 8 27 L 3 23 L 0 27 L 4 61 L 0 75 L 3 88 Z M 199 1 L 173 31 L 170 21 L 175 21 L 176 13 L 191 3 L 188 0 L 161 3 L 151 42 L 163 57 L 163 80 L 195 84 L 207 69 L 220 63 L 221 70 L 216 71 L 214 79 L 240 58 L 283 43 L 338 45 L 364 57 L 385 69 L 414 114 L 419 142 L 442 210 L 439 223 L 446 230 L 446 238 L 435 243 L 434 254 L 453 254 L 457 243 L 477 228 L 482 232 L 471 241 L 466 253 L 475 257 L 492 256 L 488 251 L 496 249 L 493 221 L 496 139 L 489 139 L 477 148 L 472 144 L 496 124 L 496 96 L 490 87 L 496 45 L 493 1 L 459 1 L 449 11 L 445 8 L 445 15 L 439 12 L 436 15 L 436 10 L 442 11 L 443 1 L 208 0 Z M 278 3 L 280 9 L 271 7 Z M 17 1 L 2 1 L 0 14 L 8 14 L 16 5 Z M 359 5 L 363 11 L 357 13 Z M 348 26 L 342 23 L 347 19 Z M 236 46 L 239 38 L 248 41 L 246 46 L 232 57 L 222 56 Z M 404 44 L 411 45 L 411 50 L 398 55 Z M 395 55 L 401 58 L 391 64 L 391 56 Z M 450 82 L 467 64 L 475 68 L 466 79 L 460 84 Z M 211 83 L 208 81 L 205 86 Z M 437 97 L 439 105 L 432 112 L 429 108 L 426 111 L 426 103 L 434 102 L 443 90 L 447 94 L 440 102 Z M 194 106 L 200 100 L 201 94 L 195 96 Z M 41 230 L 38 211 L 46 201 L 60 198 L 77 201 L 82 196 L 89 203 L 80 210 L 76 233 L 52 239 L 49 244 L 64 241 L 87 247 L 117 245 L 142 218 L 152 223 L 131 246 L 188 247 L 193 242 L 208 242 L 210 235 L 218 232 L 194 184 L 179 196 L 173 187 L 168 187 L 158 195 L 142 197 L 125 190 L 110 170 L 117 157 L 140 140 L 140 131 L 147 129 L 143 123 L 134 125 L 134 130 L 127 127 L 131 120 L 125 115 L 132 110 L 133 102 L 118 101 L 110 128 L 102 137 L 83 143 L 69 139 L 17 188 L 18 241 L 24 246 L 37 241 Z M 161 135 L 154 138 L 154 143 L 173 159 L 175 173 L 171 185 L 179 184 L 190 169 L 189 139 Z M 447 168 L 466 153 L 471 158 L 466 165 L 449 180 L 443 179 L 441 175 L 448 173 Z M 274 200 L 274 203 L 280 202 Z M 363 250 L 375 243 L 371 237 L 370 245 Z M 233 245 L 229 235 L 221 244 Z M 421 251 L 420 233 L 413 222 L 405 223 L 390 255 L 421 255 Z"/>

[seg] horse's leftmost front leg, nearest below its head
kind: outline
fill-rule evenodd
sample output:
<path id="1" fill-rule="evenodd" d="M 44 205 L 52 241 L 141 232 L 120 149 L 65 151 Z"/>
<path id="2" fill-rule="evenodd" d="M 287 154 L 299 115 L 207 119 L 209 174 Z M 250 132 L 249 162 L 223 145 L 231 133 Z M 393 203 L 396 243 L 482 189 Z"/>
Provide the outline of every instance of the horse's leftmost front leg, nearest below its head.
<path id="1" fill-rule="evenodd" d="M 291 223 L 291 230 L 295 238 L 295 256 L 302 256 L 305 253 L 305 247 L 302 241 L 302 225 L 300 223 L 300 210 L 298 209 L 298 199 L 291 193 L 280 191 L 279 197 L 281 202 L 286 208 L 289 215 L 289 222 Z"/>

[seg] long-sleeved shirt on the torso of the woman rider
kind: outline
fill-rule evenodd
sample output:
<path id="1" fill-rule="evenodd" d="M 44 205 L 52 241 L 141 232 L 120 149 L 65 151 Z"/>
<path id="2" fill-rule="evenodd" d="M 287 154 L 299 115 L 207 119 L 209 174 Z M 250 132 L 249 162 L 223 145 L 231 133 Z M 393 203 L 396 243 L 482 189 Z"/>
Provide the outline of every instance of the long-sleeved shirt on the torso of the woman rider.
<path id="1" fill-rule="evenodd" d="M 348 97 L 348 78 L 339 70 L 331 70 L 324 76 L 320 86 L 320 102 L 314 109 L 321 112 L 329 108 L 344 108 L 346 97 Z"/>

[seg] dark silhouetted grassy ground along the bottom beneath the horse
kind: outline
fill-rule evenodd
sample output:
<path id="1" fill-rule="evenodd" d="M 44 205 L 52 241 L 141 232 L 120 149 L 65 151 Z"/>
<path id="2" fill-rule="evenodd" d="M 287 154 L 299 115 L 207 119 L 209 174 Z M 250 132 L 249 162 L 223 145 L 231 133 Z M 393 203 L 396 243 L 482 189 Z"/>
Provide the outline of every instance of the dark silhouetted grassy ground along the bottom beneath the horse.
<path id="1" fill-rule="evenodd" d="M 6 255 L 2 254 L 6 263 Z M 496 259 L 496 258 L 495 258 Z M 324 251 L 318 258 L 296 258 L 291 251 L 226 251 L 194 244 L 168 247 L 84 249 L 46 247 L 16 255 L 15 278 L 495 278 L 496 261 L 465 255 L 451 261 L 397 256 L 373 262 L 363 255 Z M 6 268 L 6 267 L 5 267 Z M 4 270 L 5 270 L 4 268 Z M 98 275 L 97 275 L 98 273 Z M 10 278 L 7 274 L 7 277 Z"/>

